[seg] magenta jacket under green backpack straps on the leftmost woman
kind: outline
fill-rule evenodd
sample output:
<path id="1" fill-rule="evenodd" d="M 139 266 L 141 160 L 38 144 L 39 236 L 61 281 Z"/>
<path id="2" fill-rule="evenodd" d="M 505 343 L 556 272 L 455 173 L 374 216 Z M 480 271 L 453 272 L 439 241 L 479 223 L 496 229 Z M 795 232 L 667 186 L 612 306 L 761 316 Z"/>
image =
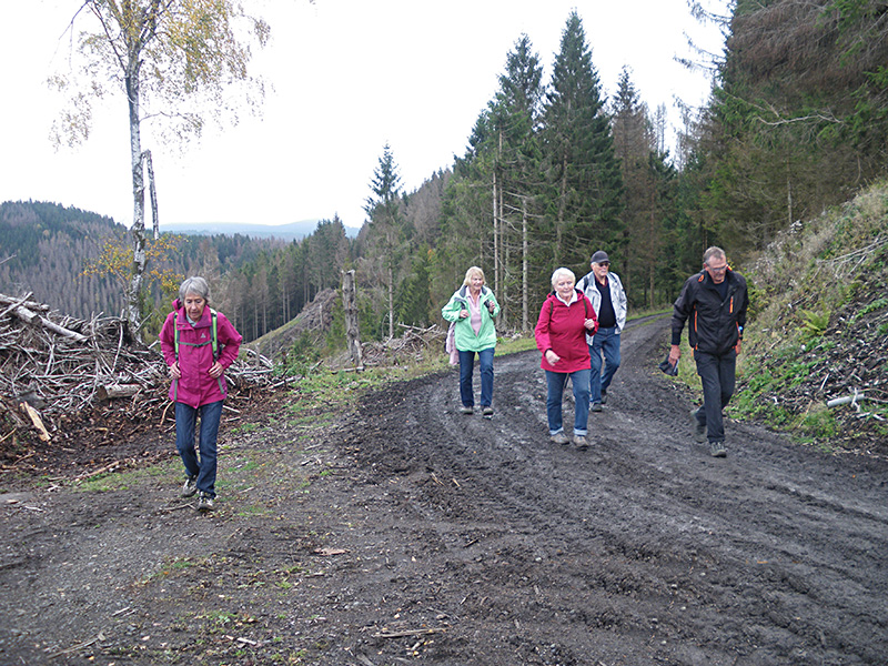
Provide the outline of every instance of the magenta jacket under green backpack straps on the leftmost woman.
<path id="1" fill-rule="evenodd" d="M 192 326 L 179 299 L 173 301 L 173 312 L 167 315 L 160 331 L 160 349 L 167 365 L 175 363 L 175 329 L 179 329 L 179 371 L 182 377 L 173 380 L 170 400 L 198 408 L 219 402 L 228 395 L 224 375 L 213 379 L 212 315 L 209 306 L 203 309 L 201 321 Z M 175 322 L 175 323 L 173 323 Z M 219 364 L 228 369 L 241 349 L 243 337 L 221 312 L 216 313 L 216 341 Z"/>

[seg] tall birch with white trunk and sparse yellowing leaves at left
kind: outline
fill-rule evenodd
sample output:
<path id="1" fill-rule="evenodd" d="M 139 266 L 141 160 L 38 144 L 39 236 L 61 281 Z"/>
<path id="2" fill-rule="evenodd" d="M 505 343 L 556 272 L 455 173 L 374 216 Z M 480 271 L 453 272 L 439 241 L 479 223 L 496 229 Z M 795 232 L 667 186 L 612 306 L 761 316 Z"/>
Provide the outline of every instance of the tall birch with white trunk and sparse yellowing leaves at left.
<path id="1" fill-rule="evenodd" d="M 153 235 L 160 235 L 143 130 L 150 127 L 153 141 L 181 148 L 199 138 L 208 121 L 233 124 L 244 107 L 256 111 L 264 82 L 251 77 L 249 65 L 252 47 L 266 44 L 270 27 L 238 0 L 82 0 L 68 33 L 70 64 L 50 79 L 68 97 L 53 127 L 57 142 L 74 145 L 89 138 L 95 100 L 113 94 L 127 103 L 133 221 L 125 302 L 130 327 L 141 337 L 147 186 Z"/>

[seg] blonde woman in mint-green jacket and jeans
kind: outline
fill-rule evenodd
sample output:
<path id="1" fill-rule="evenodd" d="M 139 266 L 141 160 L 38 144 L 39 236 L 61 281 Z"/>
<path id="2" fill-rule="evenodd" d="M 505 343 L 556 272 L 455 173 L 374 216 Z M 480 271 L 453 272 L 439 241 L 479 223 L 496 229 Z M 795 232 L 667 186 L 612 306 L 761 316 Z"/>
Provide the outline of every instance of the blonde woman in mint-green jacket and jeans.
<path id="1" fill-rule="evenodd" d="M 475 411 L 472 374 L 475 354 L 481 366 L 481 410 L 493 415 L 493 353 L 496 347 L 494 317 L 500 314 L 500 303 L 493 292 L 484 286 L 484 271 L 472 266 L 465 272 L 460 287 L 441 309 L 441 316 L 453 324 L 454 342 L 460 352 L 460 397 L 463 414 Z"/>

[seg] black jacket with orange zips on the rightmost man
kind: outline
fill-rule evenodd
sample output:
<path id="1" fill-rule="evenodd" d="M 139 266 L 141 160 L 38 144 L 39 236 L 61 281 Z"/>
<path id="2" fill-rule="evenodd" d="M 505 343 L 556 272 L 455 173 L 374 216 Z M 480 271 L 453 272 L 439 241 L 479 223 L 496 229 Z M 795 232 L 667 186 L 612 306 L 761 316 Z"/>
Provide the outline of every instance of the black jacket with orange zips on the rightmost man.
<path id="1" fill-rule="evenodd" d="M 687 322 L 688 342 L 695 351 L 720 356 L 737 345 L 749 304 L 746 279 L 728 269 L 725 281 L 728 291 L 723 301 L 706 271 L 687 279 L 673 309 L 673 344 L 682 342 Z"/>

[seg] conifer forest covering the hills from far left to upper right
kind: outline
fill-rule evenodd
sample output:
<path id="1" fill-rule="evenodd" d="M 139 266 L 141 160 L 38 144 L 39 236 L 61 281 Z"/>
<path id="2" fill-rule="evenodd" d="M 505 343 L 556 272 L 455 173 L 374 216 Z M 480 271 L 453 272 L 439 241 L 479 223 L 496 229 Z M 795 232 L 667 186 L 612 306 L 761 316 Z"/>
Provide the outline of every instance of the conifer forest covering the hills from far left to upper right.
<path id="1" fill-rule="evenodd" d="M 516 36 L 453 164 L 406 192 L 396 155 L 383 147 L 356 239 L 335 218 L 291 243 L 185 239 L 155 268 L 206 274 L 248 340 L 292 320 L 352 269 L 365 340 L 398 335 L 398 324 L 441 323 L 471 265 L 503 305 L 501 330 L 527 331 L 552 271 L 585 274 L 599 249 L 633 309 L 669 303 L 706 246 L 748 265 L 783 230 L 849 200 L 888 164 L 885 2 L 738 0 L 724 17 L 696 10 L 720 22 L 727 41 L 708 62 L 709 103 L 685 109 L 676 154 L 665 109 L 648 108 L 629 70 L 601 81 L 595 44 L 572 12 L 552 62 L 529 36 Z M 122 230 L 104 221 L 62 233 L 22 205 L 7 204 L 0 220 L 16 220 L 16 234 L 33 225 L 33 248 L 0 236 L 0 290 L 34 291 L 79 316 L 120 310 L 114 284 L 77 275 L 101 251 L 101 234 Z M 12 229 L 0 223 L 4 234 Z M 38 255 L 43 263 L 24 270 Z M 160 311 L 168 306 L 168 295 L 151 296 Z"/>

